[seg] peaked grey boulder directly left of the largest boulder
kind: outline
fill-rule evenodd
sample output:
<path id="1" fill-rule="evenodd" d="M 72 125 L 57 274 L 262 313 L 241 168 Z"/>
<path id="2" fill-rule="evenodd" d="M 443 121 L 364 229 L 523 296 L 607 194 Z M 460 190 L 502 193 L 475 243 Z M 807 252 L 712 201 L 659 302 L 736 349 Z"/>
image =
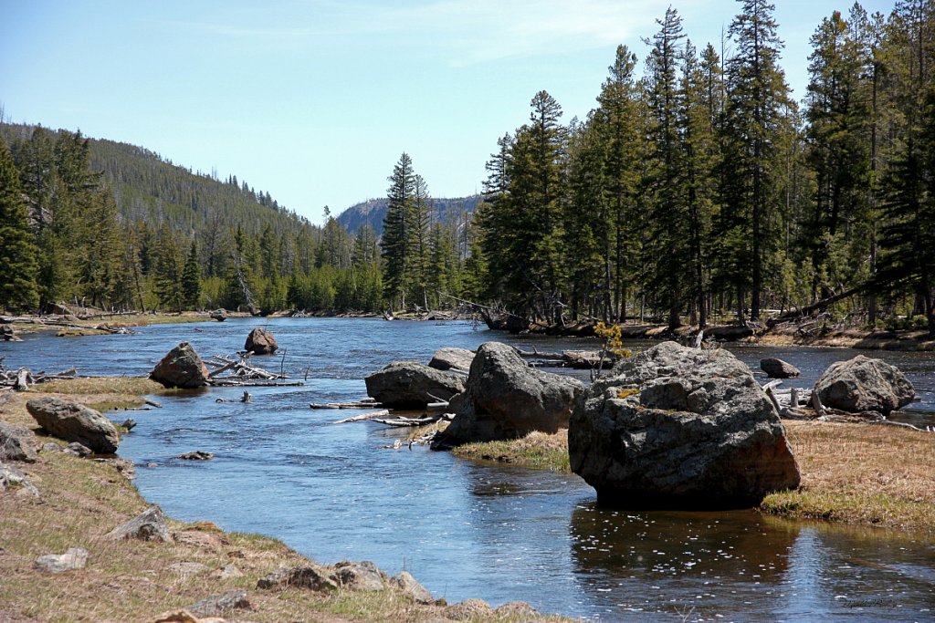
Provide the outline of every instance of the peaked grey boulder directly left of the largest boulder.
<path id="1" fill-rule="evenodd" d="M 487 342 L 470 365 L 465 393 L 437 446 L 516 439 L 568 426 L 583 383 L 530 367 L 513 347 Z"/>

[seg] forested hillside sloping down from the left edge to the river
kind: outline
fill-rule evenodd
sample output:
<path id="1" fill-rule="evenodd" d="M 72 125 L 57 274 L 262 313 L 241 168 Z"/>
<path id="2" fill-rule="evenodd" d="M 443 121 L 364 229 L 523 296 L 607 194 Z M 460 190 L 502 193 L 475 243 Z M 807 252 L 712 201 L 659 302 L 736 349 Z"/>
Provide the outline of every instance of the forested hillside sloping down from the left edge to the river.
<path id="1" fill-rule="evenodd" d="M 8 145 L 7 145 L 8 142 Z M 145 149 L 0 126 L 0 308 L 376 311 L 377 240 Z"/>

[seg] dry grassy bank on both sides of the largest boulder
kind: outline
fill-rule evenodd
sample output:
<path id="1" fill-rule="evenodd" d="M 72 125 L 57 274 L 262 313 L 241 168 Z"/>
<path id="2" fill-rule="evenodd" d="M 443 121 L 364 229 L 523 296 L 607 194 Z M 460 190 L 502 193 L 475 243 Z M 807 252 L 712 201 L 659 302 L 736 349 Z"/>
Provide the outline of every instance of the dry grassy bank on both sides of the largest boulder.
<path id="1" fill-rule="evenodd" d="M 935 536 L 932 433 L 794 419 L 783 424 L 798 460 L 801 486 L 767 496 L 761 512 Z M 534 432 L 511 442 L 468 444 L 453 452 L 464 459 L 569 472 L 567 432 Z"/>

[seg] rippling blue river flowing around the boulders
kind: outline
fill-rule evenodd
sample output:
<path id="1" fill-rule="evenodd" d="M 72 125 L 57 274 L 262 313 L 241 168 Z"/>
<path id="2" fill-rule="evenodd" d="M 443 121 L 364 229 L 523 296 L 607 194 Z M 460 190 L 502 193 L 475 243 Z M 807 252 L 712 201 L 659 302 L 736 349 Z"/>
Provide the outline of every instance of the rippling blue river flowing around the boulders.
<path id="1" fill-rule="evenodd" d="M 0 343 L 7 368 L 79 367 L 82 375 L 144 375 L 189 341 L 202 354 L 243 347 L 253 319 L 151 326 L 136 335 L 27 336 Z M 277 319 L 281 345 L 257 358 L 307 385 L 210 389 L 160 397 L 135 412 L 121 456 L 137 486 L 183 520 L 275 536 L 325 563 L 370 559 L 413 573 L 449 602 L 524 600 L 543 612 L 626 621 L 932 621 L 935 543 L 930 539 L 798 524 L 753 511 L 633 513 L 598 508 L 574 475 L 456 460 L 404 445 L 409 431 L 374 422 L 334 425 L 356 411 L 309 403 L 365 394 L 363 377 L 388 361 L 427 361 L 442 346 L 496 339 L 519 347 L 589 347 L 586 340 L 515 337 L 468 324 L 374 319 Z M 640 347 L 645 345 L 631 345 Z M 846 348 L 731 347 L 755 370 L 761 357 L 796 365 L 811 387 Z M 284 354 L 282 351 L 285 351 Z M 865 353 L 899 366 L 920 400 L 906 421 L 935 423 L 935 355 Z M 586 377 L 586 373 L 576 373 Z M 122 415 L 112 414 L 121 419 Z M 179 460 L 189 450 L 207 462 Z"/>

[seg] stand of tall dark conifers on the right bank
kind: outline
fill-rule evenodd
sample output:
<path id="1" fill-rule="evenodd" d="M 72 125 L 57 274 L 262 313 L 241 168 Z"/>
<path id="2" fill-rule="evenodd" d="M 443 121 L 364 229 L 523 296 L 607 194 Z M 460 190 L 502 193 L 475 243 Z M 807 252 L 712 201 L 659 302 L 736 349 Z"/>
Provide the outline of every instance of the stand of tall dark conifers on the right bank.
<path id="1" fill-rule="evenodd" d="M 833 12 L 801 109 L 773 11 L 741 0 L 698 50 L 669 8 L 641 76 L 619 47 L 585 120 L 537 93 L 487 164 L 480 296 L 548 322 L 703 327 L 849 295 L 852 319 L 935 333 L 935 2 Z"/>

